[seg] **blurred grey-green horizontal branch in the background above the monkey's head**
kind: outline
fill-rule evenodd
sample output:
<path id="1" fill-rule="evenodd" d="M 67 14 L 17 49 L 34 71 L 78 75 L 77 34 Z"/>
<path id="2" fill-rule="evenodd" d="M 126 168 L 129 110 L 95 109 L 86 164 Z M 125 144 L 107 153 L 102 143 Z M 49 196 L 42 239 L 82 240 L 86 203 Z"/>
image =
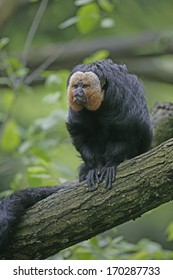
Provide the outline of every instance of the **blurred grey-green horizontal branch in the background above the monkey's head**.
<path id="1" fill-rule="evenodd" d="M 92 53 L 106 49 L 117 63 L 125 63 L 139 76 L 172 83 L 172 64 L 161 56 L 173 53 L 172 38 L 165 32 L 144 32 L 134 37 L 72 41 L 68 44 L 52 44 L 34 50 L 29 55 L 30 69 L 38 68 L 50 56 L 54 58 L 51 69 L 71 69 Z M 63 50 L 63 52 L 62 52 Z M 38 77 L 37 77 L 38 78 Z"/>

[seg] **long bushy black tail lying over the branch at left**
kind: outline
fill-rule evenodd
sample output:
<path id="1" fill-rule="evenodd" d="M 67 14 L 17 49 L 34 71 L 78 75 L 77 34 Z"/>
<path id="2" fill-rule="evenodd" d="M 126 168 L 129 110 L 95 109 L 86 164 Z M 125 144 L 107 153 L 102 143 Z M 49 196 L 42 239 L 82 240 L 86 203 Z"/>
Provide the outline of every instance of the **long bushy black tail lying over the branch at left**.
<path id="1" fill-rule="evenodd" d="M 13 238 L 15 228 L 26 210 L 61 188 L 62 186 L 27 188 L 0 200 L 0 252 Z"/>

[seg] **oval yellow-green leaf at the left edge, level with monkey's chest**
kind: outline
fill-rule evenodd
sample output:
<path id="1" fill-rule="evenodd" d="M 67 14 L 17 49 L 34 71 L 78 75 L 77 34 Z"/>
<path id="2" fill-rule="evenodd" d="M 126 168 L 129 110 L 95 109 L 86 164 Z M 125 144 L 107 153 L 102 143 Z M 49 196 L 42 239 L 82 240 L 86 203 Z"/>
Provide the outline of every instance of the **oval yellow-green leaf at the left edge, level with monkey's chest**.
<path id="1" fill-rule="evenodd" d="M 13 152 L 21 142 L 19 130 L 14 120 L 9 120 L 2 133 L 0 146 L 5 152 Z"/>

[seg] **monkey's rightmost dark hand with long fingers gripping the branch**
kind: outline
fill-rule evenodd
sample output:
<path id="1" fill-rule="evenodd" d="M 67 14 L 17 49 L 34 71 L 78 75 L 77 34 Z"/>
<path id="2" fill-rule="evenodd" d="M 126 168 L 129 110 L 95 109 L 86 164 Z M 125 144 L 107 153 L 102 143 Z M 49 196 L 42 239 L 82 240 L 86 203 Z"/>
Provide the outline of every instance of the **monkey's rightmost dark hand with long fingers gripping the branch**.
<path id="1" fill-rule="evenodd" d="M 115 182 L 115 177 L 116 177 L 115 166 L 102 168 L 100 181 L 103 181 L 105 179 L 105 181 L 106 181 L 105 188 L 106 189 L 111 189 L 112 183 Z"/>

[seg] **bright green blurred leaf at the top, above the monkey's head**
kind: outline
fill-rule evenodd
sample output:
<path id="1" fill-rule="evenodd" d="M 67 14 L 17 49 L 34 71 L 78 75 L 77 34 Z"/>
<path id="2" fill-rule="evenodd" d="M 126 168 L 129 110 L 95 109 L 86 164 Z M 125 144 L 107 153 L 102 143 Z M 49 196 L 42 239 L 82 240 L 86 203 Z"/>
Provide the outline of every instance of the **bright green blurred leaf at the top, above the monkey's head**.
<path id="1" fill-rule="evenodd" d="M 77 12 L 77 28 L 81 34 L 87 34 L 96 29 L 100 23 L 100 9 L 96 3 L 82 6 Z"/>

